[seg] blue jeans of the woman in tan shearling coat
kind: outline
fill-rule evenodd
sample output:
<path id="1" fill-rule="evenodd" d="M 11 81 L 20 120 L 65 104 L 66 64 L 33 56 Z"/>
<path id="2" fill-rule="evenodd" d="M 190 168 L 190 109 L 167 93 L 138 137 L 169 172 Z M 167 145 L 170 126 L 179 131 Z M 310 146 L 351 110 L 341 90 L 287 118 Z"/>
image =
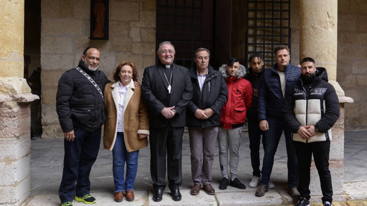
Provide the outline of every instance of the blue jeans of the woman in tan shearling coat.
<path id="1" fill-rule="evenodd" d="M 123 132 L 117 132 L 113 155 L 113 180 L 115 191 L 134 190 L 135 177 L 138 172 L 139 150 L 128 152 Z M 124 167 L 126 162 L 126 179 L 124 181 Z"/>

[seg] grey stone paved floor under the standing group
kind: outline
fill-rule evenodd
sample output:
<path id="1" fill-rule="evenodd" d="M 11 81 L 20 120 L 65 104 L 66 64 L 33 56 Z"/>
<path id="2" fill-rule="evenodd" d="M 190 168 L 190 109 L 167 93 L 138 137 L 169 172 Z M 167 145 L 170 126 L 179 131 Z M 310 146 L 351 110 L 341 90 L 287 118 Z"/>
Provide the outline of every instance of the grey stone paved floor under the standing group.
<path id="1" fill-rule="evenodd" d="M 367 198 L 367 139 L 366 131 L 345 132 L 345 161 L 344 161 L 344 194 L 348 200 Z M 248 137 L 243 136 L 240 147 L 240 162 L 238 178 L 248 186 L 252 177 Z M 261 154 L 263 153 L 261 149 Z M 262 155 L 261 155 L 262 158 Z M 62 176 L 63 139 L 38 139 L 32 141 L 31 150 L 31 196 L 27 203 L 31 205 L 59 205 L 58 187 Z M 221 179 L 216 147 L 213 165 L 214 188 L 218 188 Z M 182 176 L 180 187 L 182 201 L 174 202 L 166 188 L 163 201 L 152 201 L 152 180 L 149 172 L 149 147 L 139 151 L 138 174 L 135 181 L 135 201 L 123 201 L 128 205 L 280 205 L 292 204 L 292 199 L 286 194 L 286 150 L 284 138 L 279 143 L 275 156 L 275 164 L 271 180 L 276 189 L 270 190 L 264 197 L 255 197 L 256 188 L 246 190 L 228 187 L 227 190 L 216 189 L 214 196 L 201 192 L 197 196 L 189 194 L 192 185 L 190 172 L 189 140 L 183 139 L 182 147 Z M 121 205 L 113 201 L 112 152 L 104 150 L 101 144 L 97 161 L 91 172 L 91 194 L 97 198 L 97 205 Z M 320 201 L 320 197 L 313 197 Z M 333 205 L 337 204 L 335 202 Z M 345 205 L 346 202 L 341 202 Z M 363 203 L 366 205 L 366 201 Z M 84 205 L 76 203 L 74 205 Z M 314 204 L 315 205 L 315 204 Z M 317 205 L 317 204 L 316 204 Z M 349 204 L 348 204 L 349 205 Z M 358 205 L 358 204 L 357 204 Z"/>

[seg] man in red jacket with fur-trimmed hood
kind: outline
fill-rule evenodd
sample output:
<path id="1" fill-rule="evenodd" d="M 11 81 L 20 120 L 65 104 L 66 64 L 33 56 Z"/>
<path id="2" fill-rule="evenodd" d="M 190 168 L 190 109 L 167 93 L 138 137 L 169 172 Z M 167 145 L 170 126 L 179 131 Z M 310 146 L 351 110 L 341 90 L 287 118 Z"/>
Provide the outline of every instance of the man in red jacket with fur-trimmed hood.
<path id="1" fill-rule="evenodd" d="M 221 110 L 221 127 L 218 131 L 219 163 L 223 177 L 219 189 L 225 190 L 228 185 L 246 189 L 246 186 L 237 179 L 237 167 L 242 126 L 252 103 L 252 87 L 251 83 L 243 78 L 246 68 L 240 65 L 236 58 L 229 58 L 227 65 L 219 67 L 219 71 L 223 74 L 228 87 L 228 100 Z M 228 150 L 230 182 L 228 181 Z"/>

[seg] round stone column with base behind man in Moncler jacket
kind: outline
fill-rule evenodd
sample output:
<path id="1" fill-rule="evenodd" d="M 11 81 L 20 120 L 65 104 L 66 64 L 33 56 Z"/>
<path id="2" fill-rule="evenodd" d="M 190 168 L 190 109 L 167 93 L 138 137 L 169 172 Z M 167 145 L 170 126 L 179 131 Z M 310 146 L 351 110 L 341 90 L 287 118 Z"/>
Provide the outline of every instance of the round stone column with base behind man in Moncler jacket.
<path id="1" fill-rule="evenodd" d="M 316 67 L 327 69 L 329 82 L 339 96 L 340 117 L 332 128 L 333 138 L 330 146 L 330 171 L 333 180 L 335 201 L 344 201 L 344 103 L 353 99 L 345 97 L 344 91 L 336 82 L 337 79 L 337 0 L 300 0 L 299 1 L 299 39 L 300 60 L 305 57 L 315 59 Z M 311 166 L 312 202 L 320 202 L 321 188 L 315 164 Z"/>

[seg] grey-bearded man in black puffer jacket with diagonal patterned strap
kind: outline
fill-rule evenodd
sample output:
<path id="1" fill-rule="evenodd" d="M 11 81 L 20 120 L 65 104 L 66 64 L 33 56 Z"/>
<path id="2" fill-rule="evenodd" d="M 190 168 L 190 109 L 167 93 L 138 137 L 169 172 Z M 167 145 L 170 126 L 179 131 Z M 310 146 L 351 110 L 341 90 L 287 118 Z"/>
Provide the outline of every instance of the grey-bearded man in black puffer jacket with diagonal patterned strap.
<path id="1" fill-rule="evenodd" d="M 101 52 L 96 47 L 84 50 L 78 67 L 60 77 L 56 111 L 64 132 L 64 166 L 59 188 L 62 206 L 77 201 L 92 204 L 89 174 L 97 159 L 101 126 L 105 122 L 103 91 L 109 82 L 98 70 Z M 74 197 L 75 195 L 75 197 Z"/>

